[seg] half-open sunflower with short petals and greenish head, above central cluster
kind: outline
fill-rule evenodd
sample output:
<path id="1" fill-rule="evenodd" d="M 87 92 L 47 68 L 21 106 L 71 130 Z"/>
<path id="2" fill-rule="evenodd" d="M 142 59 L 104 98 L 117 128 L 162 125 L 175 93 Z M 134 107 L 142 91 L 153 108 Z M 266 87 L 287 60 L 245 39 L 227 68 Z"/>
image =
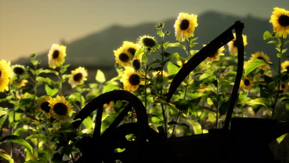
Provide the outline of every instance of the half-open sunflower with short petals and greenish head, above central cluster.
<path id="1" fill-rule="evenodd" d="M 138 38 L 138 43 L 144 50 L 155 51 L 158 48 L 158 42 L 153 36 L 140 36 Z"/>

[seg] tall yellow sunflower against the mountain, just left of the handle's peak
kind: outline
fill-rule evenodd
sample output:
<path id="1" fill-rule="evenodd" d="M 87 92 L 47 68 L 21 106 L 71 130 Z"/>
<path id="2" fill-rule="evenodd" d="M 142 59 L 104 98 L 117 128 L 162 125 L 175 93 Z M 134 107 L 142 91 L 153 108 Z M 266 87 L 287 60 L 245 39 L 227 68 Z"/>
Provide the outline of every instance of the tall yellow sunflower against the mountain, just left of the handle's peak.
<path id="1" fill-rule="evenodd" d="M 193 37 L 194 28 L 197 27 L 197 15 L 179 13 L 177 20 L 173 27 L 175 29 L 175 37 L 178 41 L 185 41 L 186 39 Z"/>

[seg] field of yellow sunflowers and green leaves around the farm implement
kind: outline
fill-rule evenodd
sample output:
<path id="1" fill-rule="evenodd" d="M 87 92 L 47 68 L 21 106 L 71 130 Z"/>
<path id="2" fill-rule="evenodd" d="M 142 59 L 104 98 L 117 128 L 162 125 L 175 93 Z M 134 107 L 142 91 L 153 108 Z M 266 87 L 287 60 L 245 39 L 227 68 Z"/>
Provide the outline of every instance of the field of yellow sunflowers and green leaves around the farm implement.
<path id="1" fill-rule="evenodd" d="M 273 65 L 266 52 L 259 50 L 245 57 L 233 117 L 289 119 L 289 11 L 275 7 L 268 23 L 272 30 L 264 31 L 264 41 L 275 45 L 276 54 L 271 56 L 278 58 L 279 63 Z M 31 66 L 0 60 L 0 160 L 77 162 L 82 153 L 75 144 L 94 134 L 96 111 L 77 129 L 71 128 L 71 124 L 89 102 L 113 90 L 125 90 L 138 97 L 146 109 L 149 127 L 166 137 L 204 134 L 209 129 L 222 128 L 237 73 L 235 39 L 201 62 L 167 102 L 175 74 L 199 52 L 194 47 L 198 44 L 194 37 L 197 15 L 179 13 L 174 24 L 175 42 L 166 41 L 172 33 L 165 24 L 155 27 L 157 37 L 144 33 L 136 42 L 123 41 L 112 51 L 118 76 L 110 80 L 99 69 L 93 77 L 81 66 L 69 72 L 70 64 L 65 62 L 69 54 L 64 45 L 52 44 L 47 69 L 40 67 L 36 54 L 30 57 Z M 250 36 L 243 34 L 242 38 L 246 50 Z M 185 57 L 168 53 L 170 48 L 180 49 Z M 95 81 L 87 82 L 89 78 Z M 66 89 L 64 84 L 70 88 Z M 123 101 L 103 105 L 101 133 L 126 105 Z M 129 110 L 120 123 L 129 122 L 137 122 L 134 110 Z M 278 143 L 285 137 L 279 137 Z"/>

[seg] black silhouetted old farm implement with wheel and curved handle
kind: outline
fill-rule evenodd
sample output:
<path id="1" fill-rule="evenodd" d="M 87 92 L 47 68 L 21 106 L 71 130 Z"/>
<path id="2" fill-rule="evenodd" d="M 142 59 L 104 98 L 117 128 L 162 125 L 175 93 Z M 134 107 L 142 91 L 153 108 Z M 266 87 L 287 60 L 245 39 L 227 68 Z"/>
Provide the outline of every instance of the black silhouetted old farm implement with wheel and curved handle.
<path id="1" fill-rule="evenodd" d="M 93 136 L 83 137 L 76 144 L 82 153 L 76 163 L 115 163 L 116 160 L 122 163 L 276 162 L 269 143 L 289 133 L 289 122 L 261 118 L 231 118 L 238 99 L 243 71 L 243 23 L 240 21 L 235 22 L 183 65 L 170 84 L 166 101 L 170 101 L 177 87 L 194 68 L 234 39 L 233 29 L 236 32 L 235 44 L 238 47 L 238 67 L 223 128 L 209 130 L 207 134 L 167 138 L 161 130 L 158 133 L 149 127 L 145 107 L 138 97 L 124 90 L 114 90 L 96 97 L 74 118 L 81 119 L 72 123 L 77 129 L 87 116 L 97 110 Z M 101 133 L 103 105 L 118 100 L 127 101 L 128 104 Z M 136 112 L 137 122 L 121 124 L 131 109 Z M 125 136 L 129 134 L 135 134 L 136 139 L 128 141 Z M 117 148 L 125 150 L 116 152 Z"/>

